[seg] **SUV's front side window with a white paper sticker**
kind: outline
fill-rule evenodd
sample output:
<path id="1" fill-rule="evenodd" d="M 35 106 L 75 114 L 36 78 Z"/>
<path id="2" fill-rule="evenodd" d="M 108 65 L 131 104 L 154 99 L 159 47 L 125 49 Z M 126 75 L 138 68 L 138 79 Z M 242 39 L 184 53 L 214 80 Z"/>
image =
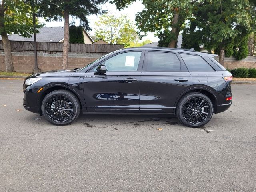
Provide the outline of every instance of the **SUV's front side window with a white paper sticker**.
<path id="1" fill-rule="evenodd" d="M 108 72 L 114 71 L 137 71 L 140 62 L 141 52 L 127 52 L 115 55 L 107 60 L 104 64 Z M 93 70 L 96 72 L 96 66 Z"/>

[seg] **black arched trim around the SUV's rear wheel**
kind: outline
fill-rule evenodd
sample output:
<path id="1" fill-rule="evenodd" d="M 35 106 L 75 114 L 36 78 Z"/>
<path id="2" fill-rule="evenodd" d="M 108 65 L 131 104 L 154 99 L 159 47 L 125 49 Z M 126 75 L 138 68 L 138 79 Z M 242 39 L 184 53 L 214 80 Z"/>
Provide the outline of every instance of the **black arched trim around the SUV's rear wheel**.
<path id="1" fill-rule="evenodd" d="M 217 111 L 218 99 L 217 99 L 216 94 L 212 90 L 210 90 L 208 88 L 198 87 L 198 86 L 192 87 L 192 88 L 186 90 L 185 92 L 183 92 L 182 94 L 180 94 L 180 96 L 178 97 L 178 99 L 175 102 L 174 107 L 176 108 L 177 104 L 180 102 L 180 99 L 185 94 L 192 93 L 192 92 L 198 92 L 198 93 L 202 93 L 202 94 L 208 96 L 210 98 L 211 102 L 212 102 L 214 113 Z M 175 114 L 175 112 L 176 112 L 176 110 L 174 111 L 174 114 Z"/>

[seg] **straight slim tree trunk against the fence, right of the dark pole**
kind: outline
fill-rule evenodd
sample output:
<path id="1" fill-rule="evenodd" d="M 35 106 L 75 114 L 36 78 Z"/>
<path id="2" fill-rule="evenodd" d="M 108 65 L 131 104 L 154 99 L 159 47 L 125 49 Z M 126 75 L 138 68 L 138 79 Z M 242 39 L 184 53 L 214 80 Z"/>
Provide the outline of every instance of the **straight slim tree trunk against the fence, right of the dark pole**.
<path id="1" fill-rule="evenodd" d="M 69 50 L 69 13 L 68 10 L 64 10 L 64 41 L 62 52 L 62 68 L 68 69 L 68 50 Z"/>

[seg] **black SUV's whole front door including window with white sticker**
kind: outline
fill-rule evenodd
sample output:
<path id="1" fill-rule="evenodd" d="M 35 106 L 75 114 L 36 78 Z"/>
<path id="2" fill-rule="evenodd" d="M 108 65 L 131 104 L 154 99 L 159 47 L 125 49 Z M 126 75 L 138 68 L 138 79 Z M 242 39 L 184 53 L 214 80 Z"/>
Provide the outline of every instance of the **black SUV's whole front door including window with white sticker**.
<path id="1" fill-rule="evenodd" d="M 139 112 L 139 85 L 144 52 L 122 52 L 84 74 L 87 112 Z M 106 74 L 96 68 L 105 65 Z"/>

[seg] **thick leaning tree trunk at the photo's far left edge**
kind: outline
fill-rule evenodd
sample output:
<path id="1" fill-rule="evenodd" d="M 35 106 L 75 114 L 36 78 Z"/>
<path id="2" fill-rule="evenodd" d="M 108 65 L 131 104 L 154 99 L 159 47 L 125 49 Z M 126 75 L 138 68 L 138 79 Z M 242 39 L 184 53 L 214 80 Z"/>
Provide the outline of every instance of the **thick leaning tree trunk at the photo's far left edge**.
<path id="1" fill-rule="evenodd" d="M 8 39 L 7 33 L 2 32 L 2 41 L 4 44 L 4 64 L 5 64 L 5 70 L 8 72 L 14 72 L 14 67 L 12 63 L 12 50 L 11 50 L 11 44 Z"/>

